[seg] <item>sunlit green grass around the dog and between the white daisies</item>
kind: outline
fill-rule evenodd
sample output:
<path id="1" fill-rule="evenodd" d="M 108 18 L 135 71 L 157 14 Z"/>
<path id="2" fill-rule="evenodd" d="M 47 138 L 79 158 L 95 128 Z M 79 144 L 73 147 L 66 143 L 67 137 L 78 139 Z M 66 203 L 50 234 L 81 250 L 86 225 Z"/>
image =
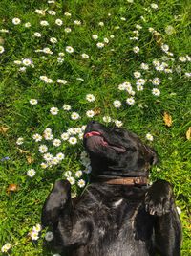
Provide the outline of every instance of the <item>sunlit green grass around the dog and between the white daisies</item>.
<path id="1" fill-rule="evenodd" d="M 0 46 L 3 48 L 0 48 L 4 52 L 0 54 L 0 247 L 11 243 L 11 249 L 5 255 L 53 255 L 51 249 L 43 248 L 44 233 L 36 241 L 29 233 L 40 222 L 43 202 L 56 179 L 65 177 L 71 170 L 76 179 L 74 193 L 79 194 L 82 190 L 77 185 L 79 178 L 74 174 L 86 168 L 80 160 L 83 148 L 80 139 L 75 145 L 62 141 L 55 147 L 53 141 L 35 142 L 32 136 L 42 135 L 45 128 L 52 128 L 54 138 L 60 139 L 67 129 L 86 125 L 91 119 L 86 115 L 90 109 L 95 111 L 97 121 L 103 122 L 104 116 L 120 120 L 124 128 L 136 132 L 145 142 L 147 133 L 153 135 L 154 140 L 147 143 L 158 151 L 159 165 L 152 170 L 151 179 L 164 178 L 173 184 L 183 227 L 181 255 L 190 255 L 191 146 L 186 131 L 191 127 L 191 64 L 189 57 L 184 62 L 180 57 L 185 57 L 191 50 L 191 5 L 189 1 L 161 0 L 155 10 L 151 3 L 71 0 L 48 4 L 47 1 L 11 0 L 8 5 L 6 0 L 1 1 Z M 46 10 L 46 14 L 37 14 L 36 9 Z M 49 14 L 49 10 L 56 14 Z M 72 16 L 66 16 L 65 12 Z M 13 18 L 19 18 L 21 23 L 14 25 Z M 57 18 L 62 19 L 62 26 L 55 24 Z M 42 27 L 41 20 L 47 20 L 49 26 Z M 74 20 L 80 20 L 81 25 L 74 25 Z M 27 22 L 31 23 L 30 28 L 25 27 Z M 99 22 L 104 22 L 104 26 L 98 25 Z M 136 24 L 142 28 L 137 29 Z M 173 27 L 172 35 L 165 32 L 167 26 Z M 72 32 L 66 33 L 65 28 L 71 28 Z M 149 32 L 149 28 L 156 32 Z M 135 30 L 139 30 L 138 41 L 130 39 L 136 35 Z M 41 37 L 34 36 L 35 32 Z M 92 35 L 98 35 L 98 39 L 94 40 Z M 51 37 L 55 37 L 57 43 L 51 43 Z M 96 43 L 103 42 L 104 38 L 108 38 L 109 43 L 99 49 Z M 173 57 L 161 50 L 162 44 L 169 45 L 168 52 L 173 53 Z M 66 46 L 72 46 L 74 53 L 67 53 Z M 138 54 L 133 51 L 135 46 L 140 49 Z M 45 47 L 49 47 L 53 54 L 35 52 Z M 62 63 L 57 61 L 60 52 L 65 54 Z M 83 53 L 89 58 L 82 58 Z M 32 59 L 33 66 L 15 64 L 15 60 L 22 61 L 23 58 Z M 154 59 L 167 63 L 172 73 L 157 71 Z M 140 68 L 142 62 L 149 65 L 148 71 Z M 143 91 L 136 88 L 135 71 L 141 72 L 142 78 L 147 80 Z M 47 76 L 53 82 L 46 83 L 40 76 Z M 156 77 L 161 81 L 157 86 L 149 81 Z M 60 84 L 57 79 L 68 82 Z M 126 103 L 131 95 L 118 90 L 118 85 L 124 81 L 131 82 L 136 92 L 134 105 Z M 154 87 L 159 88 L 159 96 L 152 94 Z M 96 101 L 88 102 L 87 94 L 95 95 Z M 36 99 L 37 105 L 30 104 L 31 99 Z M 120 108 L 114 107 L 115 100 L 122 103 Z M 64 104 L 71 105 L 72 110 L 64 111 Z M 53 106 L 59 109 L 57 115 L 50 113 Z M 77 112 L 81 118 L 71 119 L 71 112 Z M 169 127 L 163 121 L 164 112 L 172 117 Z M 73 136 L 77 137 L 76 134 Z M 23 144 L 18 145 L 20 137 Z M 65 159 L 43 169 L 40 164 L 44 160 L 38 151 L 41 144 L 46 144 L 53 155 L 63 152 Z M 32 177 L 27 175 L 30 169 L 36 172 Z M 80 178 L 88 180 L 86 173 Z"/>

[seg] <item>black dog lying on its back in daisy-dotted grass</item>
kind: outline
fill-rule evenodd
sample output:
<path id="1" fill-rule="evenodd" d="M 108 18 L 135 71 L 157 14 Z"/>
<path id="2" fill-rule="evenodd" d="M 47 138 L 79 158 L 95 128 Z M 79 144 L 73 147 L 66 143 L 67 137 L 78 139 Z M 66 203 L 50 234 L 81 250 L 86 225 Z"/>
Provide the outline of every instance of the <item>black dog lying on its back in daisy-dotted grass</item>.
<path id="1" fill-rule="evenodd" d="M 147 184 L 156 152 L 137 135 L 96 122 L 87 126 L 84 146 L 91 184 L 73 203 L 69 182 L 56 181 L 43 207 L 42 224 L 52 226 L 55 243 L 70 256 L 180 255 L 172 188 L 164 180 Z"/>

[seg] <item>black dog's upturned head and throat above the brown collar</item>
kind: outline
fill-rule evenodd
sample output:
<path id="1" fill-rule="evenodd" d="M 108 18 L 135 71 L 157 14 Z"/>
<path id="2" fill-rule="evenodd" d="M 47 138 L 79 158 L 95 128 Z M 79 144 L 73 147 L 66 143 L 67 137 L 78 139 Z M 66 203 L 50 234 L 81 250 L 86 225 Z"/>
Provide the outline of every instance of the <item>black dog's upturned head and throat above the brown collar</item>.
<path id="1" fill-rule="evenodd" d="M 122 128 L 106 128 L 92 121 L 87 125 L 83 142 L 94 177 L 147 176 L 150 166 L 157 162 L 153 149 Z"/>

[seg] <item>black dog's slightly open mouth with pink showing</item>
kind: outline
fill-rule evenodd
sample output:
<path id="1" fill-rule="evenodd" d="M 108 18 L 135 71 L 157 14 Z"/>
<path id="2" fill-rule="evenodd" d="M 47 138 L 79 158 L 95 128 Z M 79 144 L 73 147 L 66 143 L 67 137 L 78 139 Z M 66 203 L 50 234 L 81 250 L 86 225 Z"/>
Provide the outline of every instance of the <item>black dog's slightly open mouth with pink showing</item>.
<path id="1" fill-rule="evenodd" d="M 126 149 L 125 147 L 121 146 L 121 145 L 114 145 L 108 142 L 108 140 L 106 140 L 106 138 L 103 136 L 103 134 L 99 131 L 93 130 L 90 132 L 87 132 L 84 134 L 84 138 L 90 138 L 90 143 L 88 143 L 89 148 L 97 148 L 99 145 L 118 151 L 118 152 L 125 152 Z"/>

